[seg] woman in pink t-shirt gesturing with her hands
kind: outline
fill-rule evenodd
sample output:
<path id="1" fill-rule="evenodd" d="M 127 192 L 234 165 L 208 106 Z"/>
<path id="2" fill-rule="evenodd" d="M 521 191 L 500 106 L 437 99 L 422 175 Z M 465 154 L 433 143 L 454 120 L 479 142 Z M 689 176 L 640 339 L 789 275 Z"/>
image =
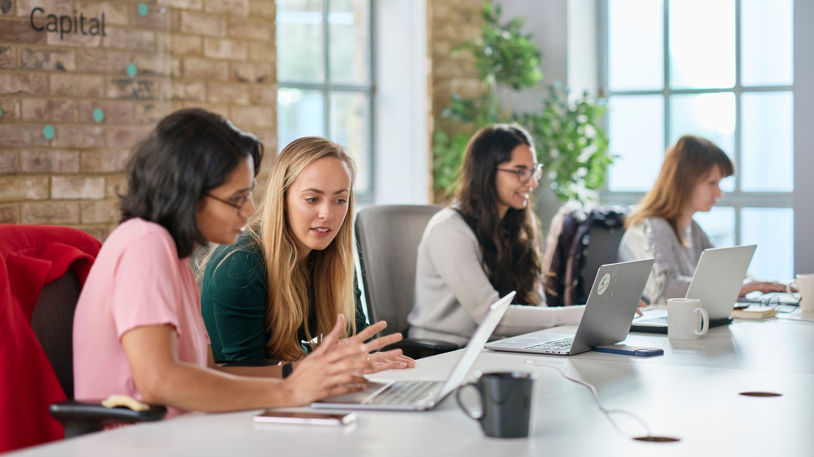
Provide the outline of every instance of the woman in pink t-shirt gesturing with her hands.
<path id="1" fill-rule="evenodd" d="M 122 222 L 102 246 L 73 325 L 75 396 L 127 394 L 177 410 L 288 407 L 362 388 L 380 371 L 368 353 L 400 339 L 363 342 L 371 325 L 339 340 L 339 315 L 322 345 L 282 377 L 279 366 L 218 367 L 189 257 L 207 242 L 233 244 L 254 212 L 263 147 L 219 115 L 168 115 L 133 152 Z M 400 350 L 387 353 L 395 357 Z"/>

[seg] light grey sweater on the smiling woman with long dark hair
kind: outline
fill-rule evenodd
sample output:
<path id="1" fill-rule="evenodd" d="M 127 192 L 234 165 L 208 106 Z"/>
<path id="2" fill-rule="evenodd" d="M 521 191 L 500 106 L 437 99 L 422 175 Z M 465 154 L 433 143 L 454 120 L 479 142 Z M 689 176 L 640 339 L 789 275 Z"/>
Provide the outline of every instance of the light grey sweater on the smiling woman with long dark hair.
<path id="1" fill-rule="evenodd" d="M 499 298 L 481 265 L 475 232 L 449 207 L 432 216 L 424 230 L 415 276 L 415 304 L 407 317 L 409 337 L 464 345 Z M 584 306 L 511 305 L 492 339 L 576 324 L 583 311 Z"/>

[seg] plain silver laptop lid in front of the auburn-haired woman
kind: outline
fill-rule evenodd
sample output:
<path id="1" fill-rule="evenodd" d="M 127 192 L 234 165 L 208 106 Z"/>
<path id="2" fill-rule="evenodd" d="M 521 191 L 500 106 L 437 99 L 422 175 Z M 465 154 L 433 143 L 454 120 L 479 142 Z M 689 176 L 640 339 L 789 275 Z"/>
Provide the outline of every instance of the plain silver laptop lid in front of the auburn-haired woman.
<path id="1" fill-rule="evenodd" d="M 686 298 L 698 298 L 710 319 L 724 319 L 741 294 L 746 268 L 755 254 L 755 245 L 705 249 L 698 259 Z"/>

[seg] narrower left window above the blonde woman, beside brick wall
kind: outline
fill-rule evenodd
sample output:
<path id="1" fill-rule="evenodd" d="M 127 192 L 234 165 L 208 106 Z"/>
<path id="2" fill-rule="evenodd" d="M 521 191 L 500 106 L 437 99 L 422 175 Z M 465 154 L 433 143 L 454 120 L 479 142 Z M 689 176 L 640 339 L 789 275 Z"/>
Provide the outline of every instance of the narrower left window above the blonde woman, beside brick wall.
<path id="1" fill-rule="evenodd" d="M 370 0 L 278 0 L 276 22 L 278 149 L 310 135 L 346 146 L 370 199 Z"/>

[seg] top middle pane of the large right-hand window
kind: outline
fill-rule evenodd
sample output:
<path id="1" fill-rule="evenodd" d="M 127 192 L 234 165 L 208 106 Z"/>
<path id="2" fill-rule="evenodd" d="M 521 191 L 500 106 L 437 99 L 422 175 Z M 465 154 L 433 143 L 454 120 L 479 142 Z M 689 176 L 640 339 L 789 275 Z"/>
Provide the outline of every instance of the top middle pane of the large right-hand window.
<path id="1" fill-rule="evenodd" d="M 735 0 L 670 1 L 670 87 L 735 85 Z"/>

